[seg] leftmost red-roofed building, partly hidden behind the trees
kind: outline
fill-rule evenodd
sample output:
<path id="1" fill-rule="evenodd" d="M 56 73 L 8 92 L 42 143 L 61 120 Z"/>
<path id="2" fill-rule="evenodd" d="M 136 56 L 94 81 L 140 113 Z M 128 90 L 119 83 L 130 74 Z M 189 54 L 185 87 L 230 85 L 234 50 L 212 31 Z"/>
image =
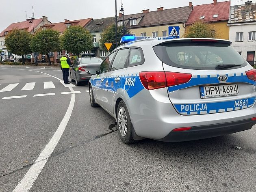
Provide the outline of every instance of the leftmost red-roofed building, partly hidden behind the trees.
<path id="1" fill-rule="evenodd" d="M 13 23 L 13 24 L 9 25 L 7 28 L 5 28 L 0 33 L 0 50 L 4 51 L 4 56 L 2 56 L 2 58 L 5 58 L 5 59 L 21 58 L 21 56 L 18 56 L 18 55 L 8 52 L 8 50 L 6 49 L 5 44 L 4 44 L 5 36 L 9 32 L 11 32 L 13 29 L 24 29 L 24 30 L 27 30 L 28 32 L 30 32 L 31 34 L 33 34 L 38 29 L 40 29 L 41 26 L 49 24 L 49 23 L 51 23 L 51 22 L 48 21 L 48 17 L 43 16 L 40 19 L 31 18 L 31 19 L 26 19 L 26 21 L 24 21 L 24 22 L 18 22 L 18 23 Z M 32 54 L 32 56 L 33 56 L 33 54 Z M 25 56 L 25 58 L 26 58 L 26 56 Z M 30 61 L 33 61 L 33 58 L 30 59 Z"/>

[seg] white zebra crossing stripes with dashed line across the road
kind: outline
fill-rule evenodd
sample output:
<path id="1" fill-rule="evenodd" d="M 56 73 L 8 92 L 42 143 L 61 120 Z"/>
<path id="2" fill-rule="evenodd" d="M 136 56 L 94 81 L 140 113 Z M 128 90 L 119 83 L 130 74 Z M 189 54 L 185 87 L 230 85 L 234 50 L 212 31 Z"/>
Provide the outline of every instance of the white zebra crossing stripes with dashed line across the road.
<path id="1" fill-rule="evenodd" d="M 39 85 L 38 85 L 39 84 Z M 8 96 L 8 97 L 0 97 L 0 99 L 18 99 L 18 98 L 26 98 L 28 95 L 25 95 L 26 91 L 34 90 L 35 87 L 40 86 L 43 90 L 53 90 L 55 88 L 59 88 L 60 86 L 64 87 L 76 87 L 74 84 L 64 84 L 63 81 L 59 82 L 52 82 L 52 81 L 46 81 L 46 82 L 27 82 L 27 83 L 11 83 L 11 84 L 0 84 L 0 96 L 1 93 L 11 93 L 11 91 L 20 91 L 20 95 L 15 96 Z M 38 89 L 37 89 L 38 90 Z M 87 93 L 89 91 L 86 91 Z M 17 93 L 17 92 L 16 92 Z M 30 92 L 31 93 L 31 92 Z M 73 94 L 73 93 L 81 93 L 80 91 L 67 91 L 67 92 L 61 92 L 60 95 L 66 95 L 66 94 Z M 41 93 L 41 94 L 35 94 L 33 97 L 42 97 L 42 96 L 51 96 L 55 95 L 56 93 Z"/>

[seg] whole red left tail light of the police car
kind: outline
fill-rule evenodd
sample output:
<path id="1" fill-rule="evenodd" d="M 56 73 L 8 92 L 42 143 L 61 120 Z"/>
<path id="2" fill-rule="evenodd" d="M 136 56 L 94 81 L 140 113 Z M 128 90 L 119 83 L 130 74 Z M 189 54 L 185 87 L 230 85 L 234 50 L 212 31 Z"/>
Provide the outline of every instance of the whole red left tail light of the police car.
<path id="1" fill-rule="evenodd" d="M 139 73 L 143 86 L 148 89 L 169 87 L 189 82 L 192 74 L 164 71 L 145 71 Z"/>

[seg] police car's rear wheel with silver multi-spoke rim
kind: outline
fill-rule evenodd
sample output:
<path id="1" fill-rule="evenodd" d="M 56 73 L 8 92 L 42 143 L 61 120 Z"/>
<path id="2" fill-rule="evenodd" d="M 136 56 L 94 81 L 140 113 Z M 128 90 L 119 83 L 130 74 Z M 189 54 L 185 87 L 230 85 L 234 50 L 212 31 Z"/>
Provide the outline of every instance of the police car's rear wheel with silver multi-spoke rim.
<path id="1" fill-rule="evenodd" d="M 132 123 L 124 101 L 120 101 L 117 107 L 117 127 L 122 142 L 125 144 L 136 142 L 132 137 Z"/>

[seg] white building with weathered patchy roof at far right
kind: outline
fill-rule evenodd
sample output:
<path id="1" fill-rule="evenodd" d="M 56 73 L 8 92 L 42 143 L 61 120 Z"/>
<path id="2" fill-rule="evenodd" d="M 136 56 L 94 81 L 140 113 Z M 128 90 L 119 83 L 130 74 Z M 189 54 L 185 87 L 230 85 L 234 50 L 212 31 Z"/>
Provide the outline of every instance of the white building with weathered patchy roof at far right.
<path id="1" fill-rule="evenodd" d="M 251 65 L 256 65 L 256 3 L 231 6 L 228 21 L 232 47 Z"/>

